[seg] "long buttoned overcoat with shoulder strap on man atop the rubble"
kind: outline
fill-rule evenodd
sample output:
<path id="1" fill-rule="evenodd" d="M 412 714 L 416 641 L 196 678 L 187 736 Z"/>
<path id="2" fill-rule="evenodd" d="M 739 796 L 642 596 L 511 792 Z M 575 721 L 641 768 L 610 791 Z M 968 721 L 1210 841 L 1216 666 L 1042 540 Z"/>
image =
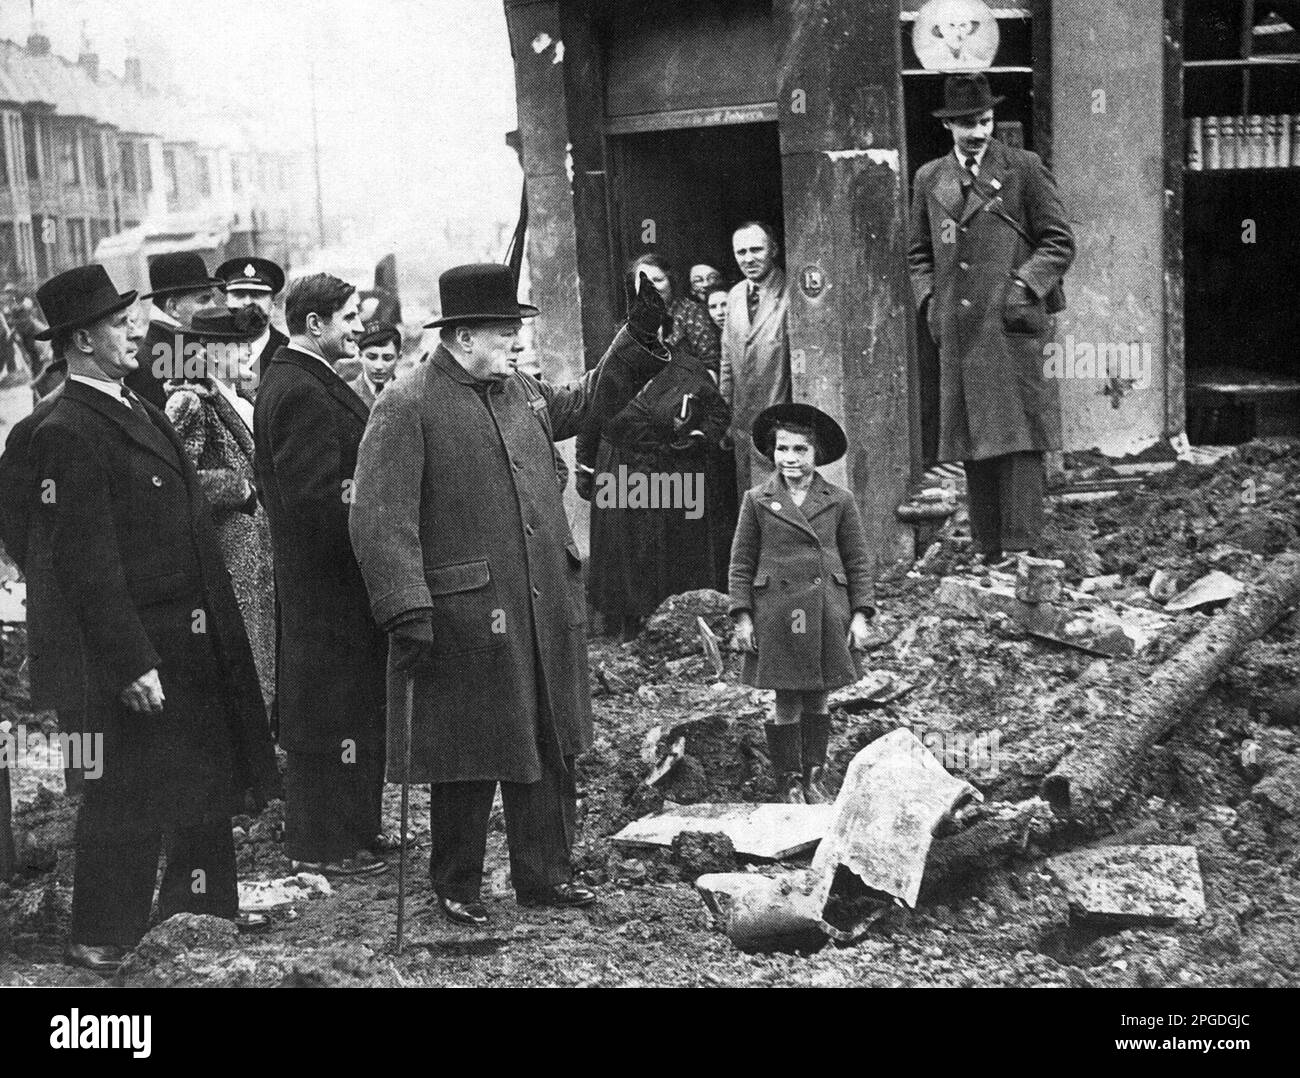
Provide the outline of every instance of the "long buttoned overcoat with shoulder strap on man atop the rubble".
<path id="1" fill-rule="evenodd" d="M 922 165 L 913 183 L 907 260 L 939 343 L 939 459 L 1060 449 L 1057 385 L 1044 375 L 1045 298 L 1074 260 L 1074 235 L 1056 181 L 1036 153 L 996 139 L 979 168 L 984 195 L 963 199 L 963 176 L 948 153 Z M 982 209 L 985 196 L 991 207 Z M 1006 317 L 1013 277 L 1036 299 L 1024 320 Z"/>

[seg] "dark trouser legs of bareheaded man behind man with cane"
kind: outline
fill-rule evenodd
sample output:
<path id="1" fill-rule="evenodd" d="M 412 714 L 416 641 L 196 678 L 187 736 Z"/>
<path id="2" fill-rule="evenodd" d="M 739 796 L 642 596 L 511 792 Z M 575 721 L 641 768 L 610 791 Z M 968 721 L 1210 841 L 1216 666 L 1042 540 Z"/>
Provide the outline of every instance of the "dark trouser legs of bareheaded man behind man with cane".
<path id="1" fill-rule="evenodd" d="M 286 756 L 285 856 L 326 862 L 369 849 L 382 830 L 382 757 L 361 752 L 344 763 L 334 753 Z"/>

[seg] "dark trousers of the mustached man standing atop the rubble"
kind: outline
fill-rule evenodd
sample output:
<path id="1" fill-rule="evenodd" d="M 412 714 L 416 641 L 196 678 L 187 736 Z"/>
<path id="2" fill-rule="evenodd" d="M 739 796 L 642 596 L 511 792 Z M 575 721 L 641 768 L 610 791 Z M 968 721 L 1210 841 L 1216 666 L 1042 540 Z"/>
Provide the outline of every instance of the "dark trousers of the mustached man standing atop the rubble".
<path id="1" fill-rule="evenodd" d="M 1009 453 L 963 464 L 975 549 L 1036 550 L 1043 537 L 1043 454 Z"/>

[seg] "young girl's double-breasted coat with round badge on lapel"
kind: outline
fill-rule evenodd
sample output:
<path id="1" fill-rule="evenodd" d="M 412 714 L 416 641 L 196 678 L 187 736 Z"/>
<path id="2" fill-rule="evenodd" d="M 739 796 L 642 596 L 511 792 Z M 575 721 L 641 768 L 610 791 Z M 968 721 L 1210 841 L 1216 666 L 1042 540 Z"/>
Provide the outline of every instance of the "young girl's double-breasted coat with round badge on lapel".
<path id="1" fill-rule="evenodd" d="M 848 633 L 872 610 L 871 557 L 853 494 L 820 475 L 802 506 L 774 473 L 745 492 L 732 544 L 731 611 L 749 610 L 758 651 L 741 679 L 759 689 L 826 690 L 858 680 Z"/>

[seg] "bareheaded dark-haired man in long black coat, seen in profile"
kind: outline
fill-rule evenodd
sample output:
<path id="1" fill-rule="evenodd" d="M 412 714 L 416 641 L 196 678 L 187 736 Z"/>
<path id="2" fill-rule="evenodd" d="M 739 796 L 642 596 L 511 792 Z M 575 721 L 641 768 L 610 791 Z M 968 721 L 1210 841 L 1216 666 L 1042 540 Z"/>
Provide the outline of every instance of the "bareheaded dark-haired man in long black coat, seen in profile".
<path id="1" fill-rule="evenodd" d="M 285 295 L 289 343 L 254 406 L 254 464 L 270 520 L 280 606 L 276 694 L 285 853 L 328 876 L 384 871 L 387 640 L 347 534 L 369 410 L 335 372 L 361 335 L 356 289 L 328 273 Z"/>

